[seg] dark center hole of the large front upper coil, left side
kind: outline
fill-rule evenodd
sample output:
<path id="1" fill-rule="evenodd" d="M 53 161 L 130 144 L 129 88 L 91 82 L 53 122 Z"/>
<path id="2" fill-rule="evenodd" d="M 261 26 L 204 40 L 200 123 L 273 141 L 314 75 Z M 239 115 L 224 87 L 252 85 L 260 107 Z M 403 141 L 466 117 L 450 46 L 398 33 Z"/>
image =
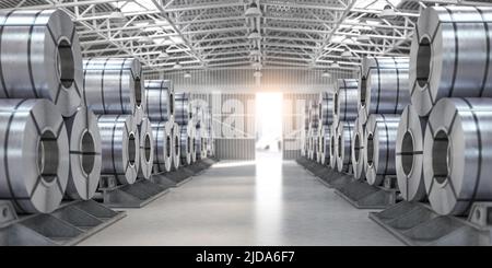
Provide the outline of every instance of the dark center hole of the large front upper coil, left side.
<path id="1" fill-rule="evenodd" d="M 75 81 L 75 61 L 73 60 L 72 45 L 61 39 L 57 47 L 57 68 L 60 83 L 70 89 Z"/>

